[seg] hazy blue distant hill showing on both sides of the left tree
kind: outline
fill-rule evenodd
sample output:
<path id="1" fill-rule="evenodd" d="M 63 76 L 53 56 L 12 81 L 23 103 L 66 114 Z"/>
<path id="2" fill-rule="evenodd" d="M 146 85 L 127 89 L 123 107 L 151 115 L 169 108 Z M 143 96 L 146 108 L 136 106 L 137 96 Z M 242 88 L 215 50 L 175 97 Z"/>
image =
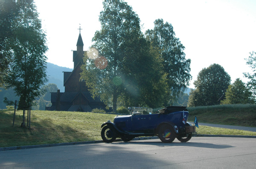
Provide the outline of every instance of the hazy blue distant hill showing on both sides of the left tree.
<path id="1" fill-rule="evenodd" d="M 52 63 L 47 63 L 48 82 L 45 85 L 48 85 L 49 83 L 54 83 L 57 85 L 58 89 L 61 90 L 61 92 L 64 92 L 65 88 L 63 86 L 63 72 L 72 72 L 72 70 L 73 69 L 60 67 Z M 15 96 L 13 89 L 4 90 L 0 88 L 0 90 L 2 90 L 0 91 L 0 109 L 6 109 L 6 104 L 3 103 L 4 97 L 7 97 L 7 99 L 11 101 L 19 101 L 19 97 Z"/>

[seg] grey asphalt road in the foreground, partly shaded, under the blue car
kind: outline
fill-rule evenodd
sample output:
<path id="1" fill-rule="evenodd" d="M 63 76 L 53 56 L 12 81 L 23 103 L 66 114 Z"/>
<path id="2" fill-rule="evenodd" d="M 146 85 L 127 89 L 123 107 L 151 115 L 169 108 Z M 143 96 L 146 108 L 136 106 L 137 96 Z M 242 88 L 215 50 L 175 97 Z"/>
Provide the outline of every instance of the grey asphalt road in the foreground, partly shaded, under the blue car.
<path id="1" fill-rule="evenodd" d="M 256 138 L 193 137 L 0 152 L 0 168 L 254 168 Z"/>

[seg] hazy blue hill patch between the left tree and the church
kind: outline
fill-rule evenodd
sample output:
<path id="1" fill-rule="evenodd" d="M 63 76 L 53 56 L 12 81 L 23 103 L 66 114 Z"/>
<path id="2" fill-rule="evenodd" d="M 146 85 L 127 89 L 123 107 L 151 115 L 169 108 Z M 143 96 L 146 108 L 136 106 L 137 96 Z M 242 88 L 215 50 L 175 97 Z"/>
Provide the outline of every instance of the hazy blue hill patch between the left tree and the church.
<path id="1" fill-rule="evenodd" d="M 47 84 L 54 83 L 57 85 L 58 89 L 61 90 L 61 92 L 64 92 L 65 88 L 63 86 L 63 72 L 72 72 L 72 70 L 73 69 L 47 63 L 47 76 L 49 80 Z"/>

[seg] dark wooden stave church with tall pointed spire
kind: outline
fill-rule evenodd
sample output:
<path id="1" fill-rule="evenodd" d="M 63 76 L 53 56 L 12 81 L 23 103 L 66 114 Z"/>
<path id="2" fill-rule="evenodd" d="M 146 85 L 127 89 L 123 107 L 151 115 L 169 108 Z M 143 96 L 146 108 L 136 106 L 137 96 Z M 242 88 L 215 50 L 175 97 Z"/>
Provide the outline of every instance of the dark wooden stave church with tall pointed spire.
<path id="1" fill-rule="evenodd" d="M 64 87 L 65 92 L 51 93 L 51 107 L 46 107 L 49 111 L 80 111 L 91 112 L 93 109 L 102 109 L 107 112 L 106 105 L 96 97 L 93 99 L 88 90 L 86 82 L 80 80 L 81 65 L 84 57 L 84 43 L 79 32 L 79 37 L 76 43 L 77 50 L 73 51 L 74 69 L 72 72 L 64 73 Z"/>

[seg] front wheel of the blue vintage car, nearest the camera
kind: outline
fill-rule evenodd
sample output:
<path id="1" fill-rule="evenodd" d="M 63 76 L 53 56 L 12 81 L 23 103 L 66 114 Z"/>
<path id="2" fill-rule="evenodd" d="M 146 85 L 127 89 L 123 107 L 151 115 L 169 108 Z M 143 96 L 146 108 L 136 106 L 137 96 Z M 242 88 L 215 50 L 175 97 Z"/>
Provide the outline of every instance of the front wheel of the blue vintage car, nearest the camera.
<path id="1" fill-rule="evenodd" d="M 102 140 L 106 143 L 112 143 L 116 140 L 116 130 L 114 127 L 107 125 L 102 128 Z"/>

